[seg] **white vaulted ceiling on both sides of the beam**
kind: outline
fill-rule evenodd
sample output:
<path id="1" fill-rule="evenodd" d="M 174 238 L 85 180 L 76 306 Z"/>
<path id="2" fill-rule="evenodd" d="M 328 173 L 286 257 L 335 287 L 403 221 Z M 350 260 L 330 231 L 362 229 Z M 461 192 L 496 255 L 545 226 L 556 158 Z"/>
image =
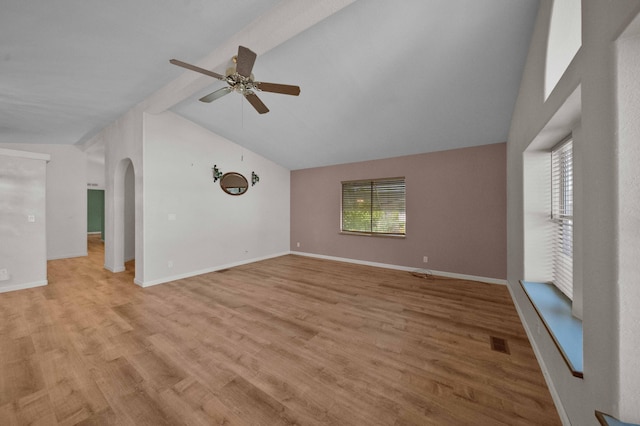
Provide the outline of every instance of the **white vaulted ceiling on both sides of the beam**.
<path id="1" fill-rule="evenodd" d="M 4 0 L 0 143 L 85 142 L 192 73 L 170 58 L 197 64 L 286 3 L 305 4 Z M 358 0 L 254 48 L 256 80 L 300 85 L 299 97 L 259 93 L 264 115 L 236 93 L 198 102 L 225 85 L 211 79 L 171 110 L 292 170 L 504 142 L 537 7 Z M 273 27 L 265 37 L 277 38 Z"/>

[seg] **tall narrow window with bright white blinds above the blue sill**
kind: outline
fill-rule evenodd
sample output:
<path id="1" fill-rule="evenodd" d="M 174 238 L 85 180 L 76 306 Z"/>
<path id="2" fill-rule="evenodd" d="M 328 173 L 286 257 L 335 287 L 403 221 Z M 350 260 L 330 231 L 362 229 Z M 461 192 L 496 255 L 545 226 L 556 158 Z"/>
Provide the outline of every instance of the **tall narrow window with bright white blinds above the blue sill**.
<path id="1" fill-rule="evenodd" d="M 565 139 L 551 151 L 551 220 L 553 280 L 573 300 L 573 142 Z"/>

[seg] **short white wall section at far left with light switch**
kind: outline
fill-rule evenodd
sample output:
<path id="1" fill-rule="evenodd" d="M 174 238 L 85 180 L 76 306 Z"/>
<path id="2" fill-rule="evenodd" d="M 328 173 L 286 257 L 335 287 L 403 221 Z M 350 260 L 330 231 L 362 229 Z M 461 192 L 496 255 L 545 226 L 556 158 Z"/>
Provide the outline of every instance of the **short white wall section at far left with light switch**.
<path id="1" fill-rule="evenodd" d="M 0 292 L 47 284 L 46 162 L 49 156 L 0 148 Z M 34 221 L 28 220 L 33 216 Z"/>

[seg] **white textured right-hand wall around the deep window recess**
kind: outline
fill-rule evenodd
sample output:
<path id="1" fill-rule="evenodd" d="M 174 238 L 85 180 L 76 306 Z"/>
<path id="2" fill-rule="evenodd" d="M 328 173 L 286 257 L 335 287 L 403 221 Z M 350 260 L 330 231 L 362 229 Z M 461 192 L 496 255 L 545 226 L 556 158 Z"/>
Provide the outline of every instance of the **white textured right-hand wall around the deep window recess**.
<path id="1" fill-rule="evenodd" d="M 582 47 L 545 101 L 551 9 L 550 0 L 541 1 L 508 140 L 509 286 L 565 423 L 597 425 L 595 410 L 640 423 L 640 132 L 630 124 L 640 114 L 637 43 L 635 58 L 619 58 L 616 67 L 616 40 L 637 16 L 640 2 L 582 2 Z M 576 125 L 576 109 L 580 140 L 574 156 L 580 172 L 575 185 L 580 193 L 574 200 L 574 277 L 577 271 L 582 294 L 574 298 L 583 305 L 584 379 L 574 378 L 548 334 L 537 332 L 538 316 L 518 284 L 525 277 L 525 235 L 530 230 L 523 209 L 524 151 L 536 138 L 566 135 Z"/>

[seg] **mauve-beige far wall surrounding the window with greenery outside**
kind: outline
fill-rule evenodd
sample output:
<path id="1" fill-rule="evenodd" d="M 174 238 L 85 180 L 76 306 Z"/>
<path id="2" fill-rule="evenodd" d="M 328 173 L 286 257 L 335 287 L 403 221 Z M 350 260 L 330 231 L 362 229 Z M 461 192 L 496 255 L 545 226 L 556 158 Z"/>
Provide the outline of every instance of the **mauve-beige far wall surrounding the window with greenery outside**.
<path id="1" fill-rule="evenodd" d="M 339 234 L 341 181 L 398 176 L 405 239 Z M 506 145 L 292 171 L 291 250 L 504 279 Z"/>

